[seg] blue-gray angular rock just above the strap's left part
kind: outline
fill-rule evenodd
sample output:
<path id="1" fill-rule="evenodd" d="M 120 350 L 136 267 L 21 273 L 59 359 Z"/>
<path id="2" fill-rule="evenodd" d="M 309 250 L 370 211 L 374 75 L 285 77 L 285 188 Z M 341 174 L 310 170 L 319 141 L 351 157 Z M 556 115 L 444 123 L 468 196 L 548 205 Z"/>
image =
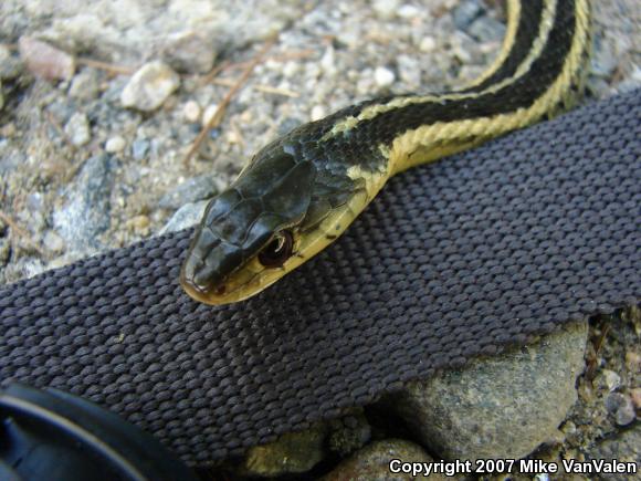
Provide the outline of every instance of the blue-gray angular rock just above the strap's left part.
<path id="1" fill-rule="evenodd" d="M 99 248 L 98 234 L 109 228 L 109 196 L 114 182 L 113 160 L 91 157 L 67 187 L 66 203 L 53 213 L 53 227 L 71 250 Z"/>

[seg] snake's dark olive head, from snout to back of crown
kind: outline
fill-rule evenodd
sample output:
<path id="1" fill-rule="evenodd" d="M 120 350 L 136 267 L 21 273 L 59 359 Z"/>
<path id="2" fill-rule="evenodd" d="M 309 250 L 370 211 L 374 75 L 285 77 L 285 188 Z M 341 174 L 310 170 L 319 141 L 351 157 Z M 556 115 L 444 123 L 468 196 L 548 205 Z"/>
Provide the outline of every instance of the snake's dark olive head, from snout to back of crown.
<path id="1" fill-rule="evenodd" d="M 227 304 L 294 269 L 314 177 L 313 164 L 282 145 L 261 150 L 207 206 L 180 272 L 186 292 L 207 304 Z"/>

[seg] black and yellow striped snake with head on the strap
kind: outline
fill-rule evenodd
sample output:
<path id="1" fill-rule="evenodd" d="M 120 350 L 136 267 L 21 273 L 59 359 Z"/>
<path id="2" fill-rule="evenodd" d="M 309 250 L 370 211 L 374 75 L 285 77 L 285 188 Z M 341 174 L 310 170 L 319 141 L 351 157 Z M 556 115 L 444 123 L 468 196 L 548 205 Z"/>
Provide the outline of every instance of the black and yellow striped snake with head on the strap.
<path id="1" fill-rule="evenodd" d="M 208 202 L 182 289 L 210 305 L 244 301 L 336 241 L 392 176 L 571 108 L 590 13 L 589 0 L 506 0 L 502 46 L 471 83 L 360 102 L 269 143 Z"/>

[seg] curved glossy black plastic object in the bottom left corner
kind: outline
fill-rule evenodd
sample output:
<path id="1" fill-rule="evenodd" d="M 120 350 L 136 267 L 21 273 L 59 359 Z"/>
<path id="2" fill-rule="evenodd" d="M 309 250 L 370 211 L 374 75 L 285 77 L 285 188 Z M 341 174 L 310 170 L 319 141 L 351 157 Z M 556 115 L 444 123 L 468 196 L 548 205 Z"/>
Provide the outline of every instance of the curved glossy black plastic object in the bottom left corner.
<path id="1" fill-rule="evenodd" d="M 0 391 L 0 480 L 197 480 L 151 436 L 80 397 Z"/>

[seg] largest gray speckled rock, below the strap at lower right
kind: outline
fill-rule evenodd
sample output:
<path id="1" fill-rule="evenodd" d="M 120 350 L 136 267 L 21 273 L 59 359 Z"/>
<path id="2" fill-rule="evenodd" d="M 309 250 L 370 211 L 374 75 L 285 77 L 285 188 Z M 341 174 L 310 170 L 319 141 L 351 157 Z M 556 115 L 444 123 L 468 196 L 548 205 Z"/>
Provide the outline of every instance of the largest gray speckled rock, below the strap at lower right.
<path id="1" fill-rule="evenodd" d="M 449 460 L 518 459 L 554 437 L 575 404 L 587 324 L 504 356 L 472 362 L 389 399 L 431 452 Z"/>

